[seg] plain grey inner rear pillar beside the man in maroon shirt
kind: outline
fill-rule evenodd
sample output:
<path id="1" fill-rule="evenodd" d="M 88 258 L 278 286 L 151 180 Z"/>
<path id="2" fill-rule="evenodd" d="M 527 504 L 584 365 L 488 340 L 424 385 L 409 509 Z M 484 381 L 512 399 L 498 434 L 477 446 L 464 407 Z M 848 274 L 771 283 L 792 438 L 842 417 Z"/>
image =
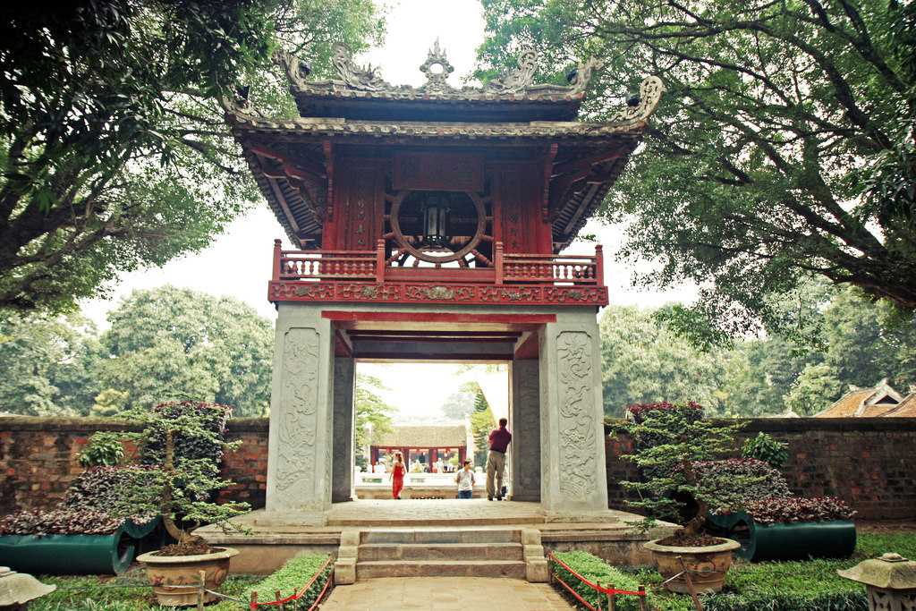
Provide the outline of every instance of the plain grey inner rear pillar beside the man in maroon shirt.
<path id="1" fill-rule="evenodd" d="M 512 361 L 512 500 L 540 501 L 540 382 L 538 359 Z"/>

